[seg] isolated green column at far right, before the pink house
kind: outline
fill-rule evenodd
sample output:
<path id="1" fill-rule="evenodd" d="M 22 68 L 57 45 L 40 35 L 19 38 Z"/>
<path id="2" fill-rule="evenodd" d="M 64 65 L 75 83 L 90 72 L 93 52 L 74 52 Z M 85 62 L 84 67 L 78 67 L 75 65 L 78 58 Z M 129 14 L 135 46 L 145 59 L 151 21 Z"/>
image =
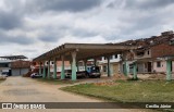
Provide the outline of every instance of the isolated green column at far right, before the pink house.
<path id="1" fill-rule="evenodd" d="M 172 80 L 172 61 L 166 60 L 166 80 Z"/>

